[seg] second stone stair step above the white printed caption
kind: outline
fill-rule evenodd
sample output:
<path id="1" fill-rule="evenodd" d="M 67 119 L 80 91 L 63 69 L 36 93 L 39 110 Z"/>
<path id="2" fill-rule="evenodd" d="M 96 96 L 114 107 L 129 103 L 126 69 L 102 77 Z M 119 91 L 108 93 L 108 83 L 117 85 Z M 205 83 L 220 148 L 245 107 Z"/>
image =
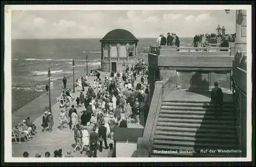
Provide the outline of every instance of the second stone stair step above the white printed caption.
<path id="1" fill-rule="evenodd" d="M 208 137 L 208 136 L 169 136 L 169 135 L 155 135 L 155 140 L 165 140 L 172 142 L 175 141 L 190 141 L 190 142 L 210 142 L 210 143 L 229 143 L 229 144 L 235 144 L 234 138 L 225 138 L 225 137 Z"/>

